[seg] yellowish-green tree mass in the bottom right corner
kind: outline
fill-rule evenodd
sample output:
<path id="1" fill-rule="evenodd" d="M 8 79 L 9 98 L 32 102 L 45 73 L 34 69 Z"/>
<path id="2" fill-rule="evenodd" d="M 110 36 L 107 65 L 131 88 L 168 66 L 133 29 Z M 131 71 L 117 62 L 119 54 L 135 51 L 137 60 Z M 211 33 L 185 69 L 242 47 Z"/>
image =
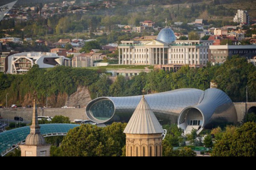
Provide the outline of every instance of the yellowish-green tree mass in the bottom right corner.
<path id="1" fill-rule="evenodd" d="M 248 122 L 217 141 L 212 156 L 256 156 L 256 123 Z"/>

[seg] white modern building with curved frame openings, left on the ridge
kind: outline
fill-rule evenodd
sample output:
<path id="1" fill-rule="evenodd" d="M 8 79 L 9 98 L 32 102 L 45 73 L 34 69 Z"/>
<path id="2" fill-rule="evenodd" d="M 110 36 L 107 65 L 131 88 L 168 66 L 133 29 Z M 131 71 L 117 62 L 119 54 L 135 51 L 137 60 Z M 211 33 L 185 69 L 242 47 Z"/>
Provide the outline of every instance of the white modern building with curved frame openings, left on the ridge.
<path id="1" fill-rule="evenodd" d="M 25 74 L 33 65 L 39 68 L 53 68 L 56 65 L 71 66 L 71 59 L 53 53 L 27 52 L 9 56 L 6 59 L 6 74 Z"/>

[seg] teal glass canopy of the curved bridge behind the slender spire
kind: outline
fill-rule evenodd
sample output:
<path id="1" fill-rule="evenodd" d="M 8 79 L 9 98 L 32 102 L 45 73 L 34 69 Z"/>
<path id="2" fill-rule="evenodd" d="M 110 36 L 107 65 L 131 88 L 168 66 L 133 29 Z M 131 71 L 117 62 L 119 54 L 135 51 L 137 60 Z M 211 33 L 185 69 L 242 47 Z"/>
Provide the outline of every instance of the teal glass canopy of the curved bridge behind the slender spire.
<path id="1" fill-rule="evenodd" d="M 47 135 L 51 133 L 67 133 L 70 129 L 78 127 L 80 125 L 73 124 L 46 124 L 41 126 L 41 134 Z M 22 141 L 25 141 L 26 137 L 29 135 L 30 128 L 21 127 L 14 130 L 8 130 L 6 132 L 0 133 L 0 153 L 12 147 L 15 144 L 18 144 Z"/>

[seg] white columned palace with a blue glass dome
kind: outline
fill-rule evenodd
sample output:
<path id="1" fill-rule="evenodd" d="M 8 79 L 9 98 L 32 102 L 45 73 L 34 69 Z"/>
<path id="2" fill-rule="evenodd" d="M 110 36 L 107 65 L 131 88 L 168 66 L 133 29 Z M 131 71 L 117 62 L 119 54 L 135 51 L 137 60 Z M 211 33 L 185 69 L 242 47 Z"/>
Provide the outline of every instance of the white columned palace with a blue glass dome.
<path id="1" fill-rule="evenodd" d="M 157 40 L 122 41 L 119 65 L 205 65 L 213 41 L 176 40 L 170 28 L 164 28 Z"/>

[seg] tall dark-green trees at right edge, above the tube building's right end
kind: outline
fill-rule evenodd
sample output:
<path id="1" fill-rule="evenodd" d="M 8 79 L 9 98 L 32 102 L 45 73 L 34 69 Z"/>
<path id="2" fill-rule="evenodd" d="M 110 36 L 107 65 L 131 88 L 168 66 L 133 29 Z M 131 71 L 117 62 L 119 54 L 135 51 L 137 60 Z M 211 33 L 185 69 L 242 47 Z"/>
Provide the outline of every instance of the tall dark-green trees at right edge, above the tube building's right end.
<path id="1" fill-rule="evenodd" d="M 251 76 L 256 68 L 247 62 L 246 58 L 234 56 L 228 59 L 215 72 L 214 81 L 218 88 L 227 93 L 233 102 L 246 101 L 246 86 L 248 86 L 249 101 L 256 101 L 255 75 Z"/>

